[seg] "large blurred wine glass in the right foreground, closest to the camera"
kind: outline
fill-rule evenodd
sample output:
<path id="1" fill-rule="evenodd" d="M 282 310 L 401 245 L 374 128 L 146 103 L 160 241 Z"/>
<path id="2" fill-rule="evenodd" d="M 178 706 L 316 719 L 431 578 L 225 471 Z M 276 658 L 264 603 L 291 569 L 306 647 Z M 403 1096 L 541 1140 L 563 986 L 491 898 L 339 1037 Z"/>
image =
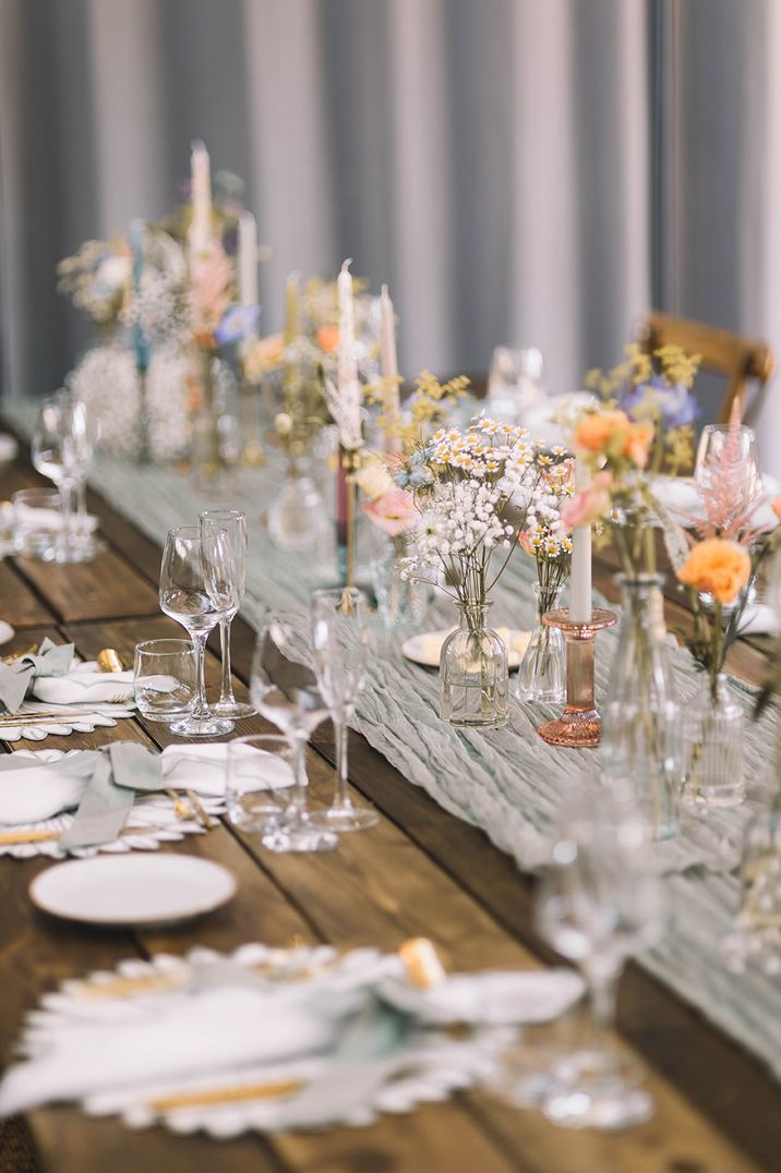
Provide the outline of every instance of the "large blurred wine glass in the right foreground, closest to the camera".
<path id="1" fill-rule="evenodd" d="M 567 1127 L 620 1128 L 653 1113 L 641 1065 L 612 1033 L 615 989 L 628 956 L 661 936 L 661 888 L 646 854 L 646 828 L 608 794 L 563 819 L 536 893 L 537 923 L 580 968 L 590 992 L 588 1037 L 553 1063 L 543 1111 Z"/>

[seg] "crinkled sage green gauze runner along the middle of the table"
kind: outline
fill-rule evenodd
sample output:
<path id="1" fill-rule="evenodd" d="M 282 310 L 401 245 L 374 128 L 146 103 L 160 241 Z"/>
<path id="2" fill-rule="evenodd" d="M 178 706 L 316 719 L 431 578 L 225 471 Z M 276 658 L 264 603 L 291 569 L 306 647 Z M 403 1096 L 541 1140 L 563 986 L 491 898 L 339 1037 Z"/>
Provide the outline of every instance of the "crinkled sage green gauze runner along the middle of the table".
<path id="1" fill-rule="evenodd" d="M 14 407 L 6 414 L 23 426 L 29 411 Z M 100 460 L 90 481 L 115 509 L 157 543 L 163 542 L 169 528 L 194 521 L 198 509 L 210 503 L 208 497 L 198 499 L 190 480 L 170 469 L 144 468 L 143 476 L 139 476 L 135 466 L 116 457 Z M 229 497 L 234 508 L 248 514 L 250 548 L 243 613 L 251 622 L 264 605 L 295 611 L 305 659 L 309 597 L 316 586 L 326 584 L 329 574 L 334 584 L 336 563 L 330 533 L 322 550 L 304 556 L 285 554 L 272 544 L 261 510 L 268 508 L 280 483 L 280 468 L 271 463 L 261 469 L 241 469 L 229 488 L 220 489 L 220 496 Z M 377 536 L 369 537 L 378 542 Z M 365 538 L 364 530 L 358 541 L 358 564 L 366 561 L 370 543 Z M 533 578 L 532 561 L 519 550 L 492 594 L 493 626 L 532 625 Z M 446 628 L 455 621 L 455 608 L 439 597 L 426 626 Z M 617 628 L 598 637 L 598 701 L 606 693 L 617 640 Z M 672 636 L 671 660 L 679 696 L 686 701 L 698 691 L 699 673 L 688 652 Z M 720 948 L 738 907 L 735 868 L 746 826 L 770 794 L 772 747 L 779 719 L 773 705 L 754 723 L 755 690 L 738 680 L 732 686 L 746 718 L 747 801 L 705 816 L 684 811 L 680 834 L 654 847 L 674 921 L 665 941 L 639 963 L 781 1078 L 781 986 L 760 972 L 730 974 Z M 370 657 L 368 687 L 350 725 L 442 807 L 482 828 L 523 870 L 533 870 L 546 857 L 550 828 L 561 801 L 598 785 L 599 752 L 563 750 L 543 741 L 537 726 L 554 716 L 545 705 L 511 703 L 510 724 L 483 733 L 456 730 L 442 721 L 438 701 L 436 671 L 406 662 L 398 650 L 378 650 Z"/>

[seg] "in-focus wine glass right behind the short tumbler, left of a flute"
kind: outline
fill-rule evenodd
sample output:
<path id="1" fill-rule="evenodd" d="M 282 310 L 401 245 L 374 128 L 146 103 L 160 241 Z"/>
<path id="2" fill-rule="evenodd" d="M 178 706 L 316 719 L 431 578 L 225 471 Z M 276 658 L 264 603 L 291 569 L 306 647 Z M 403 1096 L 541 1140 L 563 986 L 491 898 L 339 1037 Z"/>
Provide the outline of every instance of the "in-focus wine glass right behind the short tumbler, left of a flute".
<path id="1" fill-rule="evenodd" d="M 160 570 L 161 610 L 188 631 L 195 647 L 197 696 L 191 713 L 170 726 L 184 737 L 221 737 L 234 723 L 215 717 L 206 699 L 203 652 L 211 629 L 238 606 L 228 535 L 195 526 L 169 529 Z"/>

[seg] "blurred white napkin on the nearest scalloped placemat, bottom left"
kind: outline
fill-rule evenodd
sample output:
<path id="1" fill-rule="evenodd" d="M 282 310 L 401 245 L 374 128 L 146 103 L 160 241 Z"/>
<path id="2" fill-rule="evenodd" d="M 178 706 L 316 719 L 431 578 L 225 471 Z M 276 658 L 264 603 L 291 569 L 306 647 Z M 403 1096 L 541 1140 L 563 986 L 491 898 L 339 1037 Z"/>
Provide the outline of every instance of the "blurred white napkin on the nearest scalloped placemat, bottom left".
<path id="1" fill-rule="evenodd" d="M 240 986 L 204 990 L 133 1023 L 65 1021 L 0 1084 L 0 1116 L 49 1100 L 277 1063 L 334 1045 L 338 1022 L 314 1002 Z"/>

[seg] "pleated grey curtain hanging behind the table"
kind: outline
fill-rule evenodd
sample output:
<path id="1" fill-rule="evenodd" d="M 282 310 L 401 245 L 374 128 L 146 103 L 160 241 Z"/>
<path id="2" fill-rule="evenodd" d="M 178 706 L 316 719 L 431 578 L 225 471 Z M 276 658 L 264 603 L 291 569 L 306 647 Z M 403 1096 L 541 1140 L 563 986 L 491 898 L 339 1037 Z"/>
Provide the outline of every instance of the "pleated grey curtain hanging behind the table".
<path id="1" fill-rule="evenodd" d="M 162 215 L 194 137 L 247 179 L 267 331 L 351 256 L 409 374 L 533 344 L 570 389 L 651 304 L 781 351 L 779 50 L 777 0 L 0 0 L 4 393 L 61 382 L 56 260 Z"/>

